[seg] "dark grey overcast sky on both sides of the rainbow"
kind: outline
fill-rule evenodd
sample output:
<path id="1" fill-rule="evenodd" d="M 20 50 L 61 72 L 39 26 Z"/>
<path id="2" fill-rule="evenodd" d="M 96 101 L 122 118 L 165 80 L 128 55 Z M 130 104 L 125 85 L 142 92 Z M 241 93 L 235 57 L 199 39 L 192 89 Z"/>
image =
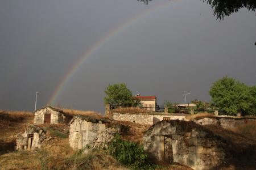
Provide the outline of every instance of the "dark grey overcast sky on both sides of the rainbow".
<path id="1" fill-rule="evenodd" d="M 255 12 L 216 20 L 200 0 L 0 1 L 0 109 L 47 105 L 57 84 L 94 44 L 145 11 L 170 3 L 112 36 L 64 86 L 55 105 L 104 111 L 108 84 L 184 103 L 209 101 L 225 75 L 256 84 Z"/>

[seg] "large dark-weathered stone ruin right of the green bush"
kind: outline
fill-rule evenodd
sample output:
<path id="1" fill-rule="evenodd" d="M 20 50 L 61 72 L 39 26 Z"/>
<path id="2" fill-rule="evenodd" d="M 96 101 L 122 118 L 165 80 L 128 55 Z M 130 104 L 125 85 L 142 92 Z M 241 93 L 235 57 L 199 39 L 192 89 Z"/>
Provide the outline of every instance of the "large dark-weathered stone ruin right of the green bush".
<path id="1" fill-rule="evenodd" d="M 144 133 L 143 144 L 152 160 L 193 169 L 214 169 L 226 156 L 225 139 L 195 122 L 160 121 Z"/>

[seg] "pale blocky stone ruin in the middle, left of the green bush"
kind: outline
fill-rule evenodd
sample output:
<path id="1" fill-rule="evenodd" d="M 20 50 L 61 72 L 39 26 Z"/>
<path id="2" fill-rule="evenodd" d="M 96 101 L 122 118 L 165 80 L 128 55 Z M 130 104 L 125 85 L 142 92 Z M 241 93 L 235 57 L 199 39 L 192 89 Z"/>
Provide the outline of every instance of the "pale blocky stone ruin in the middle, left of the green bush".
<path id="1" fill-rule="evenodd" d="M 74 150 L 107 147 L 121 129 L 107 119 L 88 116 L 74 116 L 69 125 L 69 144 Z"/>

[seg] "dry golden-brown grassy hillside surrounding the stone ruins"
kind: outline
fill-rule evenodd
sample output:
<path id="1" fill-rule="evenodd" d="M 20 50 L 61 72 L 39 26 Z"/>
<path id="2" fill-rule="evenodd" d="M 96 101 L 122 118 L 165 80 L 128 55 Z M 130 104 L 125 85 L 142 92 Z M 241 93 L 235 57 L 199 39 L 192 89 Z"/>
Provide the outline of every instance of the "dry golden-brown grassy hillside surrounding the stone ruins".
<path id="1" fill-rule="evenodd" d="M 63 109 L 70 115 L 81 114 L 98 118 L 102 116 L 92 111 L 77 111 Z M 81 150 L 73 151 L 68 141 L 68 125 L 40 125 L 47 129 L 47 142 L 36 151 L 15 151 L 15 135 L 24 133 L 28 124 L 33 123 L 34 113 L 0 111 L 0 169 L 127 169 L 109 154 L 108 150 L 93 150 L 85 154 Z M 117 121 L 112 121 L 117 123 Z M 134 124 L 132 122 L 118 122 L 129 127 L 122 135 L 126 141 L 142 142 L 143 131 L 149 126 Z M 237 129 L 225 130 L 217 126 L 206 126 L 230 141 L 230 150 L 238 155 L 232 165 L 224 169 L 253 169 L 256 162 L 255 152 L 242 152 L 242 150 L 254 150 L 256 146 L 255 129 L 256 122 L 250 122 Z M 238 134 L 242 133 L 242 134 Z M 256 148 L 255 148 L 256 149 Z M 178 164 L 161 163 L 158 169 L 191 169 Z"/>

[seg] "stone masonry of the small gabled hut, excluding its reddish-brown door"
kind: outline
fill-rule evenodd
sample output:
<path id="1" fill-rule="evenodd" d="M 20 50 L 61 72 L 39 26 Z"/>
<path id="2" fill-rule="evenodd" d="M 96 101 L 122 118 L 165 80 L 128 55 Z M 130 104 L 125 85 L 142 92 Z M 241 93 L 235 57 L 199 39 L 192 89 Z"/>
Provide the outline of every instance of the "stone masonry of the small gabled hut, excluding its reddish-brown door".
<path id="1" fill-rule="evenodd" d="M 51 124 L 63 123 L 67 118 L 63 111 L 60 111 L 59 109 L 55 109 L 52 107 L 46 107 L 35 112 L 35 125 L 44 124 L 44 114 L 51 114 Z"/>

